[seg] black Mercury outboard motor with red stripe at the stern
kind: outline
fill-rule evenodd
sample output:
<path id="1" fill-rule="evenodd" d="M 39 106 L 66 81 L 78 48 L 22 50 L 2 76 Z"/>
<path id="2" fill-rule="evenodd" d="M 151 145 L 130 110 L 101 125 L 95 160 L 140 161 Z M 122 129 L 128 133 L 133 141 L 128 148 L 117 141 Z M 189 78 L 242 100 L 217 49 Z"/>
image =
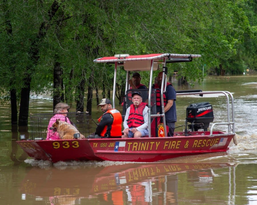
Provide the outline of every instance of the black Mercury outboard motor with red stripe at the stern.
<path id="1" fill-rule="evenodd" d="M 207 131 L 214 115 L 212 105 L 209 102 L 193 103 L 186 108 L 186 125 L 192 131 Z"/>

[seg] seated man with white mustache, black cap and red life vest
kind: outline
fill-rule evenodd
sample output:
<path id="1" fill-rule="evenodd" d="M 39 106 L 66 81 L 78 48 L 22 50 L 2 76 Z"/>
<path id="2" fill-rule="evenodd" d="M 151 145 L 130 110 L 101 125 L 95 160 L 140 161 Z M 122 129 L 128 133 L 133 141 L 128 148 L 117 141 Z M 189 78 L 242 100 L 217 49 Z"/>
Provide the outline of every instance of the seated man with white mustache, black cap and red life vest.
<path id="1" fill-rule="evenodd" d="M 122 138 L 139 138 L 148 135 L 148 107 L 142 102 L 140 92 L 132 93 L 132 103 L 126 111 Z"/>

